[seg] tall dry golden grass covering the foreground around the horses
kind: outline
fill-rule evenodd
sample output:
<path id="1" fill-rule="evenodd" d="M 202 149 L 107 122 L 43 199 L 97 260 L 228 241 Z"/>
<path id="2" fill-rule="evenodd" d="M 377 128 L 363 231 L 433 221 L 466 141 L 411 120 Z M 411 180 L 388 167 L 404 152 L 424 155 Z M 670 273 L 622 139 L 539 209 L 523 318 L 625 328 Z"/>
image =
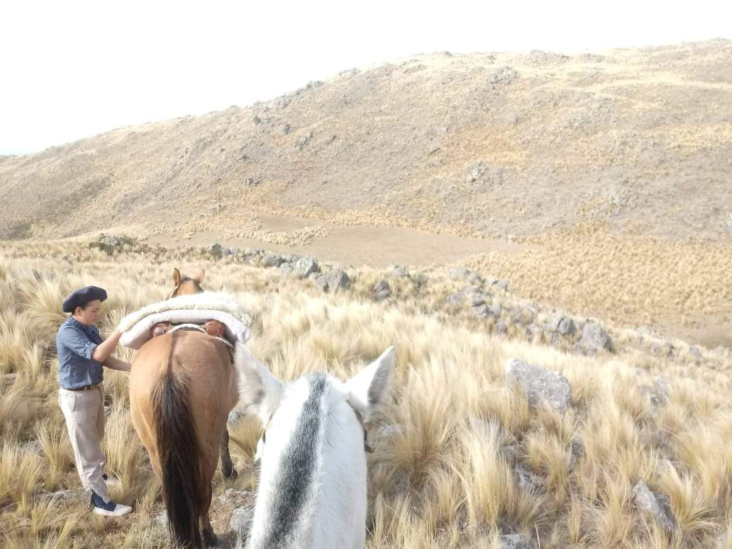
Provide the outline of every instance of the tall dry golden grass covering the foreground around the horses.
<path id="1" fill-rule="evenodd" d="M 0 545 L 164 547 L 167 534 L 153 520 L 160 486 L 130 424 L 124 373 L 105 373 L 104 448 L 122 480 L 112 495 L 135 512 L 121 520 L 89 514 L 56 400 L 53 337 L 69 288 L 108 289 L 104 333 L 163 298 L 173 263 L 110 260 L 81 244 L 7 244 L 0 253 Z M 587 357 L 498 337 L 492 324 L 444 310 L 455 283 L 438 276 L 421 293 L 410 280 L 392 280 L 397 299 L 377 303 L 370 288 L 383 273 L 368 269 L 352 291 L 333 295 L 276 269 L 176 266 L 204 266 L 206 288 L 236 296 L 253 317 L 250 347 L 280 378 L 310 370 L 346 377 L 397 346 L 392 400 L 370 430 L 370 548 L 499 547 L 507 533 L 529 534 L 542 548 L 709 547 L 732 523 L 732 384 L 721 362 L 715 370 L 683 356 L 664 362 L 622 345 Z M 529 408 L 505 382 L 512 357 L 563 373 L 572 385 L 569 411 Z M 640 387 L 659 374 L 668 404 L 654 408 Z M 258 436 L 250 419 L 231 430 L 240 476 L 225 482 L 217 474 L 215 494 L 255 488 Z M 635 507 L 638 479 L 670 498 L 675 534 Z M 52 504 L 45 494 L 63 488 L 72 495 Z M 222 509 L 214 497 L 219 533 L 228 530 Z"/>

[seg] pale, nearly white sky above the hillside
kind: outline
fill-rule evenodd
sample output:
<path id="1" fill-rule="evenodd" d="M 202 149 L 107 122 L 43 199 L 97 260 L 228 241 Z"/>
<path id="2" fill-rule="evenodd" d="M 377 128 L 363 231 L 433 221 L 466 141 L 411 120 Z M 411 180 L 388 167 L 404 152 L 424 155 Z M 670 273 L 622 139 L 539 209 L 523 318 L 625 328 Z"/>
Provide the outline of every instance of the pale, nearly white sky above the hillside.
<path id="1" fill-rule="evenodd" d="M 0 154 L 249 105 L 415 53 L 712 38 L 732 38 L 732 1 L 8 1 Z"/>

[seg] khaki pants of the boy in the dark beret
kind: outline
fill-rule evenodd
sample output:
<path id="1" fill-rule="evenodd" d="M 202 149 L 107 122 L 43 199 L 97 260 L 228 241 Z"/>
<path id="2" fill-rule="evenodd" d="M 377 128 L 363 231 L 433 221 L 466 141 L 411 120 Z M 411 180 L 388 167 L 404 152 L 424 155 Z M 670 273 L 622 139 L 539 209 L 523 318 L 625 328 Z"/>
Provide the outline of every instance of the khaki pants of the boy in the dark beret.
<path id="1" fill-rule="evenodd" d="M 102 452 L 104 386 L 99 384 L 90 391 L 69 391 L 61 387 L 59 406 L 66 418 L 81 484 L 85 490 L 94 490 L 106 503 L 109 497 L 102 478 L 105 466 Z"/>

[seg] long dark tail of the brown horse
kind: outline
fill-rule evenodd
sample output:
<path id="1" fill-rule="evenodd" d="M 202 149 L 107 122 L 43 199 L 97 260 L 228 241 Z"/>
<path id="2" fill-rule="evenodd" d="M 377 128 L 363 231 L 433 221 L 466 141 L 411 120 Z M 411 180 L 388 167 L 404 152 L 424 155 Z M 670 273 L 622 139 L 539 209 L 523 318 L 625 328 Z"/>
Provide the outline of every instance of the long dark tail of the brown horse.
<path id="1" fill-rule="evenodd" d="M 187 380 L 173 373 L 171 356 L 152 391 L 157 452 L 168 509 L 168 529 L 176 546 L 201 548 L 201 451 L 189 404 Z"/>

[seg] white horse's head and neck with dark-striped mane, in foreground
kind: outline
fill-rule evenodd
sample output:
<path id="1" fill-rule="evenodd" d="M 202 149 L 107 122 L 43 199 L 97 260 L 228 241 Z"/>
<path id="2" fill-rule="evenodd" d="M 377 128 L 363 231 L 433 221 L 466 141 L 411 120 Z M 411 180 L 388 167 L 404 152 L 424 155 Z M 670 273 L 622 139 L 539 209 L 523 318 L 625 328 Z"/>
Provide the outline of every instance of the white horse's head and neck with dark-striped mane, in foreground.
<path id="1" fill-rule="evenodd" d="M 394 347 L 346 383 L 310 373 L 283 384 L 243 344 L 235 362 L 244 409 L 264 426 L 247 547 L 363 548 L 364 423 L 384 401 Z"/>

